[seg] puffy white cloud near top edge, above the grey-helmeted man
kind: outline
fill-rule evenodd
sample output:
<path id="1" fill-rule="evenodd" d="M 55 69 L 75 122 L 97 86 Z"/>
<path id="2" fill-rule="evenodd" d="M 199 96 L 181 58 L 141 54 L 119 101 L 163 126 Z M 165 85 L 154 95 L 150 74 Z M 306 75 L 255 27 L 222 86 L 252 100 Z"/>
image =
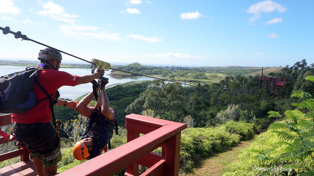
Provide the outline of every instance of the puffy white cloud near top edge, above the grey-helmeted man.
<path id="1" fill-rule="evenodd" d="M 49 16 L 52 19 L 64 21 L 67 23 L 75 22 L 77 20 L 75 20 L 74 18 L 79 17 L 79 15 L 66 13 L 64 8 L 60 7 L 59 5 L 53 2 L 41 3 L 41 4 L 45 10 L 39 11 L 38 14 L 44 17 Z"/>

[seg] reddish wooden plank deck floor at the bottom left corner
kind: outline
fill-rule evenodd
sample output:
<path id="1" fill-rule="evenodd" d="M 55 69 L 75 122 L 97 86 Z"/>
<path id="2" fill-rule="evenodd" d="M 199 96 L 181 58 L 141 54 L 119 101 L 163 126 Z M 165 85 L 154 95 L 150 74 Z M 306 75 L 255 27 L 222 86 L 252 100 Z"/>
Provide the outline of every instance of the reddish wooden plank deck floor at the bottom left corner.
<path id="1" fill-rule="evenodd" d="M 36 176 L 32 160 L 21 161 L 0 169 L 0 176 Z"/>

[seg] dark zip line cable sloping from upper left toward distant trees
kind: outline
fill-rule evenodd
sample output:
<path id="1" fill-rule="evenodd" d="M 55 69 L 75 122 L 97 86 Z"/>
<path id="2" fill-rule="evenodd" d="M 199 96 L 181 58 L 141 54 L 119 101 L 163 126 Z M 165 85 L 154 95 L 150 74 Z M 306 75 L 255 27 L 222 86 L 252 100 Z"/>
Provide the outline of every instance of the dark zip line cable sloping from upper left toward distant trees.
<path id="1" fill-rule="evenodd" d="M 61 53 L 67 54 L 67 55 L 69 55 L 69 56 L 72 56 L 72 57 L 74 57 L 74 58 L 83 60 L 83 61 L 85 61 L 85 62 L 88 62 L 88 63 L 94 65 L 94 63 L 92 63 L 92 62 L 90 62 L 90 61 L 88 61 L 88 60 L 84 60 L 84 59 L 79 58 L 79 57 L 77 57 L 77 56 L 74 56 L 74 55 L 72 55 L 72 54 L 66 53 L 66 52 L 64 52 L 64 51 L 61 51 L 61 50 L 56 49 L 56 48 L 53 48 L 53 47 L 48 46 L 48 45 L 46 45 L 46 44 L 42 44 L 42 43 L 40 43 L 40 42 L 37 42 L 37 41 L 35 41 L 35 40 L 32 40 L 32 39 L 28 38 L 26 35 L 22 34 L 20 31 L 18 31 L 18 32 L 15 33 L 15 32 L 13 32 L 13 31 L 11 31 L 8 26 L 6 26 L 5 28 L 0 27 L 0 29 L 2 30 L 3 34 L 9 34 L 9 33 L 10 33 L 10 34 L 13 34 L 14 37 L 15 37 L 15 39 L 21 38 L 22 40 L 29 40 L 29 41 L 35 42 L 35 43 L 37 43 L 37 44 L 41 44 L 41 45 L 46 46 L 46 47 L 49 47 L 49 48 L 51 48 L 51 49 L 55 49 L 55 50 L 57 50 L 57 51 L 59 51 L 59 52 L 61 52 Z M 183 84 L 183 85 L 189 85 L 189 86 L 198 87 L 198 88 L 202 88 L 202 89 L 208 89 L 208 90 L 211 90 L 211 91 L 220 91 L 220 90 L 216 90 L 216 89 L 210 89 L 210 88 L 207 88 L 207 87 L 201 87 L 201 86 L 197 86 L 197 85 L 191 85 L 191 84 L 181 83 L 181 82 L 177 82 L 177 81 L 165 80 L 165 79 L 162 79 L 162 78 L 156 78 L 156 77 L 153 77 L 153 76 L 147 76 L 147 75 L 141 75 L 141 74 L 132 73 L 132 72 L 128 72 L 128 71 L 117 70 L 117 69 L 114 69 L 114 68 L 110 68 L 110 69 L 111 69 L 111 70 L 116 70 L 116 71 L 122 71 L 122 72 L 125 72 L 125 73 L 130 73 L 130 74 L 134 74 L 134 75 L 139 75 L 139 76 L 145 76 L 145 77 L 149 77 L 149 78 L 154 78 L 154 79 L 158 79 L 158 80 L 169 81 L 169 82 L 179 83 L 179 84 Z M 232 93 L 232 94 L 239 94 L 239 95 L 249 95 L 249 96 L 265 96 L 265 95 L 270 95 L 270 94 L 272 94 L 274 91 L 273 91 L 272 93 L 264 94 L 264 95 L 252 95 L 252 94 L 235 93 L 235 92 L 229 92 L 229 91 L 220 91 L 220 92 Z"/>

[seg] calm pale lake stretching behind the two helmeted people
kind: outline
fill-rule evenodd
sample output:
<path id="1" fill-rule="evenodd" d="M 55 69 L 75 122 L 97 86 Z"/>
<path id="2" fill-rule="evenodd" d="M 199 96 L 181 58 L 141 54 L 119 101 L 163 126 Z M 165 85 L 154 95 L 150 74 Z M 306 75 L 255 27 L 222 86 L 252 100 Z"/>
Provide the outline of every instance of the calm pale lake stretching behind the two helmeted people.
<path id="1" fill-rule="evenodd" d="M 10 66 L 10 65 L 0 65 L 0 76 L 7 75 L 16 71 L 25 70 L 23 66 Z M 60 71 L 68 72 L 72 75 L 89 75 L 91 74 L 91 69 L 69 69 L 69 68 L 60 68 Z M 145 76 L 132 76 L 132 77 L 111 77 L 110 71 L 106 71 L 104 77 L 109 78 L 109 83 L 106 86 L 113 85 L 113 84 L 122 84 L 127 83 L 130 81 L 139 81 L 139 80 L 154 80 L 154 78 L 149 78 Z M 60 92 L 60 98 L 68 98 L 75 100 L 76 98 L 89 93 L 92 91 L 92 84 L 80 84 L 74 87 L 72 86 L 62 86 L 58 90 Z"/>

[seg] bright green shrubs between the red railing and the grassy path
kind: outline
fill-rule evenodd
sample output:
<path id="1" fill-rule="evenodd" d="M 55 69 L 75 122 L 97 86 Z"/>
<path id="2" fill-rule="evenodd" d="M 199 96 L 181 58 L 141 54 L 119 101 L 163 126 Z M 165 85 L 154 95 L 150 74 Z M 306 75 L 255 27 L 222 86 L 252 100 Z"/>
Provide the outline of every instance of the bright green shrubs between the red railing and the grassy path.
<path id="1" fill-rule="evenodd" d="M 190 172 L 195 161 L 213 153 L 223 152 L 241 139 L 254 135 L 253 125 L 245 122 L 228 122 L 219 127 L 187 128 L 182 131 L 180 150 L 180 172 Z"/>

